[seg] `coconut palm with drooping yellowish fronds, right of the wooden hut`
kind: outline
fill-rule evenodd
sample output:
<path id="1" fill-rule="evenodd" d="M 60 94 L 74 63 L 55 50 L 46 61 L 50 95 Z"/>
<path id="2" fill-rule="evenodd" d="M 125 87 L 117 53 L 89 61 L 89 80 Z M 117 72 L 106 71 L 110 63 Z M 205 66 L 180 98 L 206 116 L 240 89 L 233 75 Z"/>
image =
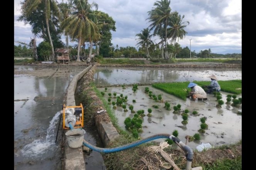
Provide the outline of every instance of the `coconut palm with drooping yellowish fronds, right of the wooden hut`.
<path id="1" fill-rule="evenodd" d="M 80 62 L 81 41 L 84 42 L 89 37 L 93 37 L 98 28 L 90 19 L 93 13 L 91 12 L 92 5 L 88 3 L 88 0 L 72 0 L 71 5 L 73 12 L 61 22 L 61 28 L 65 31 L 65 35 L 78 40 L 77 61 Z"/>

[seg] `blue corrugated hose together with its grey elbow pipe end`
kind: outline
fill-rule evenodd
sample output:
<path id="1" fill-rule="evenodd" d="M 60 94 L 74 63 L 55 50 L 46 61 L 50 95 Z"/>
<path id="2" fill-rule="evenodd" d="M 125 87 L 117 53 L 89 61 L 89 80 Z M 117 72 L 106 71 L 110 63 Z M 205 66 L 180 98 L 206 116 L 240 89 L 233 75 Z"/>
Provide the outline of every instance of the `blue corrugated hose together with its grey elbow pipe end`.
<path id="1" fill-rule="evenodd" d="M 69 128 L 74 129 L 74 127 L 72 126 L 71 121 L 69 122 Z M 122 150 L 130 149 L 132 147 L 135 147 L 135 146 L 138 146 L 140 144 L 149 142 L 151 140 L 161 139 L 161 138 L 167 138 L 167 139 L 173 140 L 173 142 L 175 142 L 182 150 L 184 150 L 185 156 L 186 156 L 186 159 L 187 159 L 186 170 L 191 170 L 191 163 L 192 163 L 193 155 L 194 155 L 193 150 L 188 145 L 186 145 L 182 141 L 180 141 L 179 138 L 177 138 L 173 135 L 170 135 L 170 134 L 152 135 L 152 136 L 147 137 L 145 139 L 141 139 L 141 140 L 132 142 L 130 144 L 126 144 L 126 145 L 115 147 L 115 148 L 99 148 L 99 147 L 96 147 L 94 145 L 89 144 L 88 142 L 86 142 L 86 140 L 83 140 L 83 144 L 86 147 L 88 147 L 89 149 L 92 149 L 92 150 L 97 151 L 97 152 L 113 153 L 113 152 L 119 152 L 119 151 L 122 151 Z"/>

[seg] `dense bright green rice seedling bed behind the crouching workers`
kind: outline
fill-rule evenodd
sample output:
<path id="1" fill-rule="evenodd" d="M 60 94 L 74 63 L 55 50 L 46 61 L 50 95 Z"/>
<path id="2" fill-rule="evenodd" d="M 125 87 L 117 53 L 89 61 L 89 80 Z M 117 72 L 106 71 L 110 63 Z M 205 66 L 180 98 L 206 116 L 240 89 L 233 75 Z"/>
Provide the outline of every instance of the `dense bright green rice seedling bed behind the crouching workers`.
<path id="1" fill-rule="evenodd" d="M 211 81 L 194 81 L 194 83 L 199 86 L 209 85 Z M 227 80 L 227 81 L 218 81 L 221 86 L 221 91 L 230 92 L 234 94 L 242 93 L 242 80 Z M 190 88 L 187 88 L 189 81 L 187 82 L 175 82 L 175 83 L 154 83 L 153 87 L 172 94 L 173 96 L 179 97 L 180 99 L 186 100 L 187 92 L 184 89 L 190 91 Z"/>

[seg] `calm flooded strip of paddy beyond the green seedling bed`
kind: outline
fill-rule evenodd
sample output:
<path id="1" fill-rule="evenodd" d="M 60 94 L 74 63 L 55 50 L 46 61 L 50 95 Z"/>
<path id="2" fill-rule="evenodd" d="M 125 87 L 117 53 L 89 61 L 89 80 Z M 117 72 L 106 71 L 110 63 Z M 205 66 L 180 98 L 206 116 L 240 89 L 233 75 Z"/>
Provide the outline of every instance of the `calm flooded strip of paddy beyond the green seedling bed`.
<path id="1" fill-rule="evenodd" d="M 155 83 L 176 81 L 210 81 L 215 74 L 219 80 L 242 79 L 241 69 L 192 68 L 97 68 L 96 85 Z"/>

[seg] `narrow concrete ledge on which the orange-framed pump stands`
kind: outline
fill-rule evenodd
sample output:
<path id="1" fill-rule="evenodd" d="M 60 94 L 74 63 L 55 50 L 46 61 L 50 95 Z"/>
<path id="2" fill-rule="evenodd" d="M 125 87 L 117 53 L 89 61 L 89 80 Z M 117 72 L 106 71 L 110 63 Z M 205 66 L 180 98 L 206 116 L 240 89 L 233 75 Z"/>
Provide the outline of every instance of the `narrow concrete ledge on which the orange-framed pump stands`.
<path id="1" fill-rule="evenodd" d="M 84 74 L 88 72 L 89 69 L 92 68 L 92 65 L 88 66 L 86 69 L 81 71 L 80 73 L 76 74 L 72 81 L 69 84 L 69 87 L 67 88 L 67 106 L 76 106 L 75 102 L 75 91 L 76 91 L 76 85 L 77 81 L 81 79 Z M 67 130 L 64 130 L 64 133 Z M 82 147 L 79 147 L 77 149 L 71 149 L 67 144 L 67 139 L 65 137 L 64 142 L 64 149 L 65 149 L 65 155 L 64 155 L 64 169 L 65 170 L 85 170 L 85 163 L 84 163 L 84 155 Z"/>

